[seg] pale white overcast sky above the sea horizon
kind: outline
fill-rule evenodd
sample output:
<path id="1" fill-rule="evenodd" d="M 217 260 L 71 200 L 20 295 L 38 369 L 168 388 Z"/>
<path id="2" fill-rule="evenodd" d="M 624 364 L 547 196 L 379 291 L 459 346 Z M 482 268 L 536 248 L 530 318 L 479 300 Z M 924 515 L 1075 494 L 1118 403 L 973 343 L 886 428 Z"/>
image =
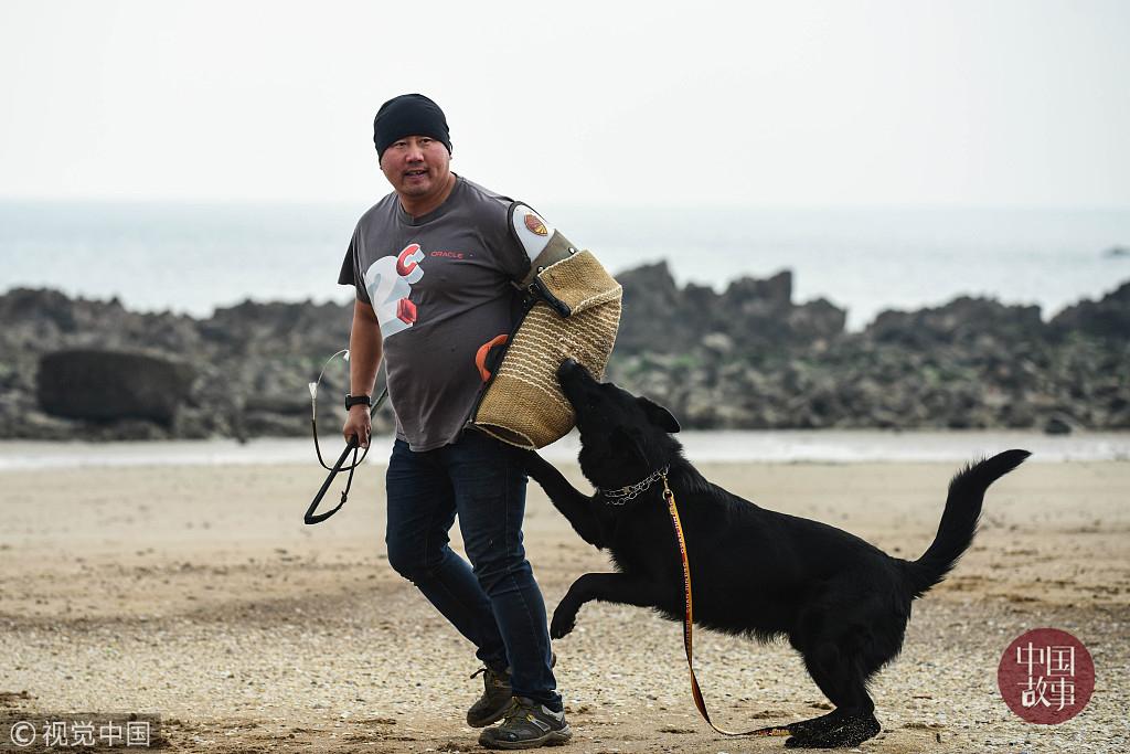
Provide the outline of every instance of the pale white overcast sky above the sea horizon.
<path id="1" fill-rule="evenodd" d="M 421 92 L 533 203 L 1130 206 L 1130 2 L 0 5 L 0 197 L 345 201 Z"/>

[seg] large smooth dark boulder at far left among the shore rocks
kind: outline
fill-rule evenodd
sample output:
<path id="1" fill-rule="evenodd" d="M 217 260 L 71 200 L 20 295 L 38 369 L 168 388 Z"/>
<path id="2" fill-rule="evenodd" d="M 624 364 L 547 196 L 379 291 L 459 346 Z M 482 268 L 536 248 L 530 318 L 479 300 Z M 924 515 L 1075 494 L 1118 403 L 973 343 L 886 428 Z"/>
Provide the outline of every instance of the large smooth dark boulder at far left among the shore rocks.
<path id="1" fill-rule="evenodd" d="M 160 356 L 56 350 L 40 359 L 36 397 L 44 413 L 62 418 L 148 419 L 169 426 L 191 383 L 186 364 Z"/>

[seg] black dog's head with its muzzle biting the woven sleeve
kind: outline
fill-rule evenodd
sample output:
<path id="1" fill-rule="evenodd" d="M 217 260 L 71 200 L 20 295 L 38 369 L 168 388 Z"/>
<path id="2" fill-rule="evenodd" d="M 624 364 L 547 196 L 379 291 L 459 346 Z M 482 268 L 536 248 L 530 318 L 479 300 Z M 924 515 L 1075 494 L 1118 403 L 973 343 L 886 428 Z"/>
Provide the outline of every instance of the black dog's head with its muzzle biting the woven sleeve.
<path id="1" fill-rule="evenodd" d="M 597 487 L 638 482 L 679 456 L 671 436 L 679 423 L 659 404 L 611 382 L 597 382 L 572 358 L 557 370 L 562 391 L 576 413 L 581 471 Z"/>

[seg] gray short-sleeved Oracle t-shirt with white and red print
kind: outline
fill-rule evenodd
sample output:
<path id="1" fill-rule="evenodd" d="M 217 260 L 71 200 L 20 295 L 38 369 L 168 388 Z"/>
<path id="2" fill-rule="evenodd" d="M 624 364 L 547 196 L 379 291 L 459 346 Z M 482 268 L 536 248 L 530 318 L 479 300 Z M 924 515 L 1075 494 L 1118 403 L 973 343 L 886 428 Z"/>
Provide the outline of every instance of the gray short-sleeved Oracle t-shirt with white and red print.
<path id="1" fill-rule="evenodd" d="M 453 442 L 470 416 L 483 385 L 476 355 L 511 331 L 514 283 L 546 235 L 531 214 L 457 176 L 434 211 L 414 218 L 390 193 L 354 231 L 338 283 L 376 312 L 397 436 L 415 451 Z"/>

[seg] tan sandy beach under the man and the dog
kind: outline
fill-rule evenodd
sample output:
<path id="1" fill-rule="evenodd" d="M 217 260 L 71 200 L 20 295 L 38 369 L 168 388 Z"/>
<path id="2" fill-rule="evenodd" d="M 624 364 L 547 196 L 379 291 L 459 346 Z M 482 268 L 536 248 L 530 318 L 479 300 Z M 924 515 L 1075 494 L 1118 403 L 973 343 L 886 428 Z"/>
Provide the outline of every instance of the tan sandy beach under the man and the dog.
<path id="1" fill-rule="evenodd" d="M 763 506 L 916 557 L 957 467 L 701 468 Z M 181 752 L 478 749 L 463 722 L 481 690 L 473 652 L 385 561 L 383 468 L 366 466 L 346 508 L 306 527 L 322 478 L 313 465 L 0 473 L 2 716 L 158 713 Z M 973 549 L 915 604 L 902 656 L 878 676 L 884 728 L 860 749 L 1130 748 L 1128 501 L 1127 461 L 1029 462 L 994 485 Z M 607 570 L 536 485 L 527 520 L 550 610 L 574 578 Z M 1096 668 L 1087 709 L 1055 727 L 1022 721 L 997 690 L 1005 648 L 1041 626 L 1074 633 Z M 650 612 L 589 605 L 555 649 L 575 731 L 566 751 L 783 749 L 706 727 L 680 629 Z M 725 727 L 827 709 L 784 643 L 698 632 L 696 669 Z"/>

